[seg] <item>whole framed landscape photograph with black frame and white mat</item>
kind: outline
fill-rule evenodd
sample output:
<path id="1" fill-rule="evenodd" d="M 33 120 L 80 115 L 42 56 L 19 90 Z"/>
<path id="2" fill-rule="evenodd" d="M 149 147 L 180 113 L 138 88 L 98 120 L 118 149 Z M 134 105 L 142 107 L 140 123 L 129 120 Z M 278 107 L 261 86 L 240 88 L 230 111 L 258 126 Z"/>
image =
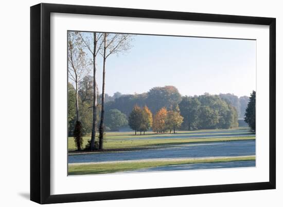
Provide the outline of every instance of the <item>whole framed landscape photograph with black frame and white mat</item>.
<path id="1" fill-rule="evenodd" d="M 32 201 L 275 189 L 275 18 L 30 14 Z"/>

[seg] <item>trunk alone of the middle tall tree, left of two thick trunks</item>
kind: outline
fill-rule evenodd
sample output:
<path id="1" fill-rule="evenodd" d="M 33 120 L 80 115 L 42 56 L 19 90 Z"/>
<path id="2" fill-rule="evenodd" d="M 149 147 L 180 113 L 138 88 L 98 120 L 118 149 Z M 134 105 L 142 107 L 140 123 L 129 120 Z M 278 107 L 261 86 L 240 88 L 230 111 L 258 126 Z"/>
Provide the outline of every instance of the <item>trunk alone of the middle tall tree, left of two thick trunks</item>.
<path id="1" fill-rule="evenodd" d="M 92 125 L 92 137 L 91 137 L 91 151 L 95 150 L 95 133 L 96 133 L 96 105 L 97 105 L 97 92 L 96 92 L 96 32 L 93 33 L 93 125 Z"/>

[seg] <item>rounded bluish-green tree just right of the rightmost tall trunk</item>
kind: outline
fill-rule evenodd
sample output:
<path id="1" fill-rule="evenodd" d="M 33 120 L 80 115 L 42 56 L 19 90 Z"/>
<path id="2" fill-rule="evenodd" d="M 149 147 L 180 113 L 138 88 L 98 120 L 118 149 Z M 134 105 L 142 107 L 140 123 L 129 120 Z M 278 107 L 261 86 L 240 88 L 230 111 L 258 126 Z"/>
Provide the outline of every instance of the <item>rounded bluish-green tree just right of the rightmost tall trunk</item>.
<path id="1" fill-rule="evenodd" d="M 123 114 L 118 109 L 111 109 L 105 113 L 105 126 L 111 131 L 118 131 L 120 127 L 128 125 L 126 114 Z"/>

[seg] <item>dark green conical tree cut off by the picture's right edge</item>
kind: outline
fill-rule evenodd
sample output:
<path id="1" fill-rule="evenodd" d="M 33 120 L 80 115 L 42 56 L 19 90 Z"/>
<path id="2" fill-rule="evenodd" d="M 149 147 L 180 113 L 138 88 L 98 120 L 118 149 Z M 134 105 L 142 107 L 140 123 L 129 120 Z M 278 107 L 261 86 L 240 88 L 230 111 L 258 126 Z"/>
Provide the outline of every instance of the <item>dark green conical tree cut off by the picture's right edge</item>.
<path id="1" fill-rule="evenodd" d="M 255 91 L 251 93 L 250 101 L 249 103 L 247 103 L 244 120 L 253 131 L 256 130 L 256 92 Z"/>

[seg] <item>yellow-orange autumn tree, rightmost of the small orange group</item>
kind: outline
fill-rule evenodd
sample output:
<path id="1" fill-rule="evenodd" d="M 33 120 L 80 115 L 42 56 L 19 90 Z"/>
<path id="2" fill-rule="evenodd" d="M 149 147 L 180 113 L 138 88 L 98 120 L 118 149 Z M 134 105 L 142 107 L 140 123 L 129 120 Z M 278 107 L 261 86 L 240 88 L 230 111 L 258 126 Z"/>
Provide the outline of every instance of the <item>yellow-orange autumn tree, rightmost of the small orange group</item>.
<path id="1" fill-rule="evenodd" d="M 180 115 L 180 110 L 178 105 L 175 107 L 174 110 L 170 110 L 167 112 L 166 118 L 166 128 L 170 131 L 173 131 L 175 134 L 175 130 L 180 128 L 183 123 L 183 116 Z"/>

